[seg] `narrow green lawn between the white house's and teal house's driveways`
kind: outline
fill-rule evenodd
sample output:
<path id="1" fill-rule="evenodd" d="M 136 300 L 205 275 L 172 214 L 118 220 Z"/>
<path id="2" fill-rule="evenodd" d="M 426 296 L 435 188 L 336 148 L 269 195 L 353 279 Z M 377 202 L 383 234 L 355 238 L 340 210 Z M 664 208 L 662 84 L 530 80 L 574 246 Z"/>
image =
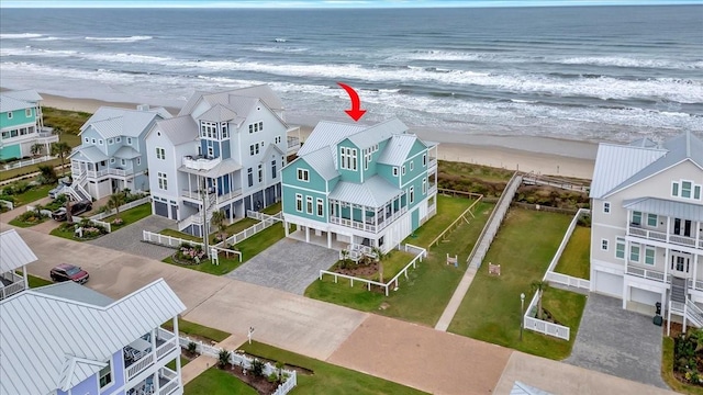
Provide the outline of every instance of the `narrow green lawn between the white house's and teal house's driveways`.
<path id="1" fill-rule="evenodd" d="M 161 233 L 164 233 L 164 230 L 161 230 Z M 210 260 L 207 260 L 199 264 L 181 266 L 175 263 L 171 257 L 168 257 L 163 261 L 166 263 L 171 263 L 210 274 L 222 275 L 238 268 L 242 263 L 254 258 L 257 253 L 269 248 L 276 241 L 282 239 L 283 237 L 286 237 L 283 225 L 281 223 L 278 223 L 235 245 L 235 247 L 242 252 L 242 262 L 239 262 L 239 258 L 237 256 L 231 255 L 227 258 L 225 257 L 224 252 L 220 253 L 220 264 L 212 264 Z"/>

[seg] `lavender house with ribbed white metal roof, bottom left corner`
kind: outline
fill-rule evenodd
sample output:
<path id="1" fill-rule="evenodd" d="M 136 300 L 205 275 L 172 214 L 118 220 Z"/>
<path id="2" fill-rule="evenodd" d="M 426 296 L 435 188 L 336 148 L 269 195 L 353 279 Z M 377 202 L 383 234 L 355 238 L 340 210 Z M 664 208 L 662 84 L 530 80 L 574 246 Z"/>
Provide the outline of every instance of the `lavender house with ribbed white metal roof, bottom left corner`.
<path id="1" fill-rule="evenodd" d="M 182 394 L 185 309 L 163 279 L 118 301 L 74 282 L 3 298 L 0 394 Z"/>

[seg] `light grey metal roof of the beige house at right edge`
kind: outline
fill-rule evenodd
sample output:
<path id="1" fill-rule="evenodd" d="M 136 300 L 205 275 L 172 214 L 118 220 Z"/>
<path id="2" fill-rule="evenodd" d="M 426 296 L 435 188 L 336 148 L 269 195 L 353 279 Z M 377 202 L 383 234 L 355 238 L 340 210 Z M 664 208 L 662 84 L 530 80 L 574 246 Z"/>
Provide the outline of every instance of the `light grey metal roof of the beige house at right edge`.
<path id="1" fill-rule="evenodd" d="M 590 196 L 605 198 L 684 160 L 703 169 L 703 140 L 691 132 L 668 139 L 661 147 L 650 145 L 645 140 L 636 146 L 601 144 Z"/>

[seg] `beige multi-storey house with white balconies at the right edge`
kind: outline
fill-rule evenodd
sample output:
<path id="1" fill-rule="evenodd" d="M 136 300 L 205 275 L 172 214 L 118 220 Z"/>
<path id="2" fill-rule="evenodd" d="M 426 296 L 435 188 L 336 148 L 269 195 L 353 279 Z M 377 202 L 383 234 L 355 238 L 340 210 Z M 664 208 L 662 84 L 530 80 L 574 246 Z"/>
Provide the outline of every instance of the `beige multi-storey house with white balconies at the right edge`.
<path id="1" fill-rule="evenodd" d="M 590 195 L 591 291 L 703 326 L 703 140 L 601 144 Z"/>

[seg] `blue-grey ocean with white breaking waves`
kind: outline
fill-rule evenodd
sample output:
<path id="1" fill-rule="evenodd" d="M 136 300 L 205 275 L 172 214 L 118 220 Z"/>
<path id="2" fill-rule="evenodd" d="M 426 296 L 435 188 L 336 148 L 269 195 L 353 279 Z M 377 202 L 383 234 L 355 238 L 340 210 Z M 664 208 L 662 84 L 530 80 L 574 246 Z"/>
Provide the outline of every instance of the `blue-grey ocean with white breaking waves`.
<path id="1" fill-rule="evenodd" d="M 703 5 L 3 9 L 0 86 L 181 106 L 269 83 L 292 123 L 368 110 L 456 134 L 703 133 Z"/>

